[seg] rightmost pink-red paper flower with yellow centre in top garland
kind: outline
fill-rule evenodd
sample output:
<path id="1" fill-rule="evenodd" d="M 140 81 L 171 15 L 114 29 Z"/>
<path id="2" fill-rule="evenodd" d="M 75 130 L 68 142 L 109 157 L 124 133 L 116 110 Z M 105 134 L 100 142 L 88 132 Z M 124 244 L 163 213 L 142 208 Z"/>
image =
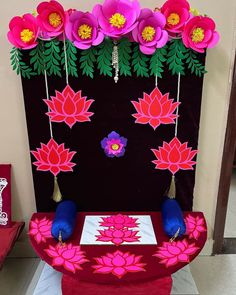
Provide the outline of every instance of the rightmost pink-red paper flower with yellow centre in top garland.
<path id="1" fill-rule="evenodd" d="M 215 22 L 207 16 L 194 16 L 184 27 L 182 40 L 187 48 L 203 53 L 219 42 Z"/>

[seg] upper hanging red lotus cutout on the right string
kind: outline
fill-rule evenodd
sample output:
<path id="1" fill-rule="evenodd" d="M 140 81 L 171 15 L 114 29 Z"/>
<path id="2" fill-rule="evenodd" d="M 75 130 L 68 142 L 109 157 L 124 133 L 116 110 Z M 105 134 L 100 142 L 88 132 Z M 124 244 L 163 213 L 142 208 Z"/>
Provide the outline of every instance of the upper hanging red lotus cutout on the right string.
<path id="1" fill-rule="evenodd" d="M 180 104 L 169 99 L 169 93 L 162 95 L 156 87 L 150 95 L 143 94 L 143 99 L 131 101 L 137 113 L 132 116 L 136 118 L 135 123 L 149 124 L 155 130 L 160 124 L 174 124 L 177 115 L 175 109 Z"/>

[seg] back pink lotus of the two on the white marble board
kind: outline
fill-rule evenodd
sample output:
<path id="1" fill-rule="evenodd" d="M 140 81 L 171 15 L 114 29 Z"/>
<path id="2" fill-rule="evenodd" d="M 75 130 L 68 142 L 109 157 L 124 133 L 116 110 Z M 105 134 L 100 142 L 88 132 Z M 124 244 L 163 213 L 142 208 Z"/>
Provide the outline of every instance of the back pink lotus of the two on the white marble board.
<path id="1" fill-rule="evenodd" d="M 115 229 L 138 227 L 138 218 L 129 217 L 128 215 L 117 214 L 109 217 L 102 217 L 101 226 L 112 227 Z"/>

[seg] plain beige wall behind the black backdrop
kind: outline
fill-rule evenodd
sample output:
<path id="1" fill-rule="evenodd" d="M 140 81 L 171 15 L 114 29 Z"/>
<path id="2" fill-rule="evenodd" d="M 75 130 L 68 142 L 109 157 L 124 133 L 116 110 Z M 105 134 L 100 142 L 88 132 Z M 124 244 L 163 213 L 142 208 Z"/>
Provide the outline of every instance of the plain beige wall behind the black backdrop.
<path id="1" fill-rule="evenodd" d="M 6 33 L 12 16 L 32 12 L 39 2 L 32 0 L 0 2 L 0 162 L 13 165 L 13 217 L 15 220 L 25 220 L 26 223 L 36 208 L 21 82 L 10 67 L 9 50 L 11 46 L 6 39 Z M 80 1 L 80 4 L 72 0 L 61 0 L 60 2 L 66 8 L 80 7 L 81 10 L 90 10 L 97 1 Z M 164 1 L 142 0 L 140 2 L 143 6 L 154 8 Z M 236 1 L 227 0 L 226 5 L 225 1 L 192 0 L 191 4 L 192 7 L 214 18 L 221 34 L 220 44 L 217 48 L 209 50 L 207 56 L 209 74 L 206 75 L 204 81 L 200 154 L 194 201 L 194 209 L 203 211 L 208 221 L 209 242 L 205 253 L 210 254 L 229 102 L 229 81 L 235 49 Z M 32 107 L 34 107 L 33 101 L 32 97 Z M 13 255 L 34 255 L 28 245 L 26 232 L 17 243 Z"/>

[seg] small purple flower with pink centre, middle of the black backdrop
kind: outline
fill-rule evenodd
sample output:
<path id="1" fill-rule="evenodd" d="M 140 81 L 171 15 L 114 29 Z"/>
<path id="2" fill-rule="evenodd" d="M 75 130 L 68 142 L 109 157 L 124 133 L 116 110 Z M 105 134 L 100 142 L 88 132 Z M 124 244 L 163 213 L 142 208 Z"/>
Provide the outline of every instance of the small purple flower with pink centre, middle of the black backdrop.
<path id="1" fill-rule="evenodd" d="M 120 136 L 115 131 L 108 134 L 108 137 L 103 138 L 101 146 L 105 151 L 105 154 L 110 157 L 122 157 L 125 153 L 125 147 L 127 145 L 127 139 Z"/>

